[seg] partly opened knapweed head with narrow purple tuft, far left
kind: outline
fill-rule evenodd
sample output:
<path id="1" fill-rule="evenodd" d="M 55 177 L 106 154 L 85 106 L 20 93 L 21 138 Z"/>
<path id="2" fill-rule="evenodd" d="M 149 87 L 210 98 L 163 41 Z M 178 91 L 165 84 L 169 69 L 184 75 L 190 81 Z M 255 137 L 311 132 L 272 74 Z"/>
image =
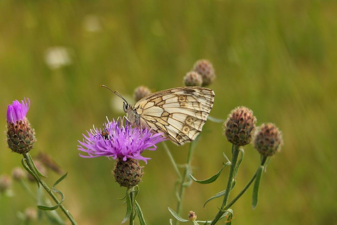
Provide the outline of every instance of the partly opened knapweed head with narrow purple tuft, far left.
<path id="1" fill-rule="evenodd" d="M 13 101 L 7 108 L 7 143 L 8 147 L 17 153 L 27 153 L 35 143 L 35 132 L 26 114 L 30 101 Z"/>

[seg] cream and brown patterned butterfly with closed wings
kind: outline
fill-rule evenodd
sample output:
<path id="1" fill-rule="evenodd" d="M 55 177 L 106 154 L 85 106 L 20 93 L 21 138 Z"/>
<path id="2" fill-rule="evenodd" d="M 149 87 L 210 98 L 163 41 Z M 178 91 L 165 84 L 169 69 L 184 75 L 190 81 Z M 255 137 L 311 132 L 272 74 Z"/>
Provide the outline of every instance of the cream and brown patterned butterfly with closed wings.
<path id="1" fill-rule="evenodd" d="M 117 91 L 111 91 L 125 101 L 123 110 L 131 125 L 163 133 L 162 136 L 177 145 L 191 142 L 200 134 L 214 102 L 214 91 L 203 87 L 154 92 L 134 105 L 127 103 Z"/>

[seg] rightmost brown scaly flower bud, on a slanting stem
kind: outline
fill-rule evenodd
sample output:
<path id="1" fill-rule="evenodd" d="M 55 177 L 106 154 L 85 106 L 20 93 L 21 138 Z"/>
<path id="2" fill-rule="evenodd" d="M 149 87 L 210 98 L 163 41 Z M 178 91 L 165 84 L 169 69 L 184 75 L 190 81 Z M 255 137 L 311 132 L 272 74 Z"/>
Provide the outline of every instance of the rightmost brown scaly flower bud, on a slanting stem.
<path id="1" fill-rule="evenodd" d="M 263 156 L 272 156 L 281 150 L 282 133 L 273 123 L 262 124 L 255 133 L 253 144 Z"/>

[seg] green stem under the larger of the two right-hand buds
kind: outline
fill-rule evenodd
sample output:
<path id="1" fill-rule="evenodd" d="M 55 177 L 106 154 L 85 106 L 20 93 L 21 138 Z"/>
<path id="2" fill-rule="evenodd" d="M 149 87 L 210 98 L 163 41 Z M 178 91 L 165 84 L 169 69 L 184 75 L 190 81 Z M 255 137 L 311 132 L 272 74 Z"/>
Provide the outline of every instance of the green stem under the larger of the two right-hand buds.
<path id="1" fill-rule="evenodd" d="M 218 220 L 220 219 L 220 217 L 224 213 L 223 210 L 224 210 L 224 207 L 227 204 L 229 193 L 231 192 L 232 183 L 233 183 L 233 180 L 234 180 L 236 161 L 237 161 L 238 156 L 239 156 L 239 146 L 234 145 L 234 144 L 232 145 L 232 154 L 233 154 L 232 155 L 232 164 L 231 164 L 231 169 L 229 170 L 227 187 L 226 187 L 226 191 L 225 191 L 225 194 L 224 194 L 224 197 L 223 197 L 223 202 L 222 202 L 221 208 L 219 209 L 219 212 L 213 218 L 210 225 L 216 224 L 218 222 Z"/>

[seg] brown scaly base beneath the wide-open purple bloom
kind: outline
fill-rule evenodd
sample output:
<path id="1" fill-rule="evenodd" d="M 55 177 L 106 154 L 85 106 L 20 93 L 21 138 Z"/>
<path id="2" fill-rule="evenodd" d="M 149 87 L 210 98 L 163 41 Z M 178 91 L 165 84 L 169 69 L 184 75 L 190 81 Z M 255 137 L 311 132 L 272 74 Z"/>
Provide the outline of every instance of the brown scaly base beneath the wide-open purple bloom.
<path id="1" fill-rule="evenodd" d="M 117 158 L 113 174 L 120 186 L 131 188 L 142 181 L 143 168 L 144 166 L 139 164 L 139 160 L 127 158 L 126 161 L 123 161 L 123 159 Z"/>

